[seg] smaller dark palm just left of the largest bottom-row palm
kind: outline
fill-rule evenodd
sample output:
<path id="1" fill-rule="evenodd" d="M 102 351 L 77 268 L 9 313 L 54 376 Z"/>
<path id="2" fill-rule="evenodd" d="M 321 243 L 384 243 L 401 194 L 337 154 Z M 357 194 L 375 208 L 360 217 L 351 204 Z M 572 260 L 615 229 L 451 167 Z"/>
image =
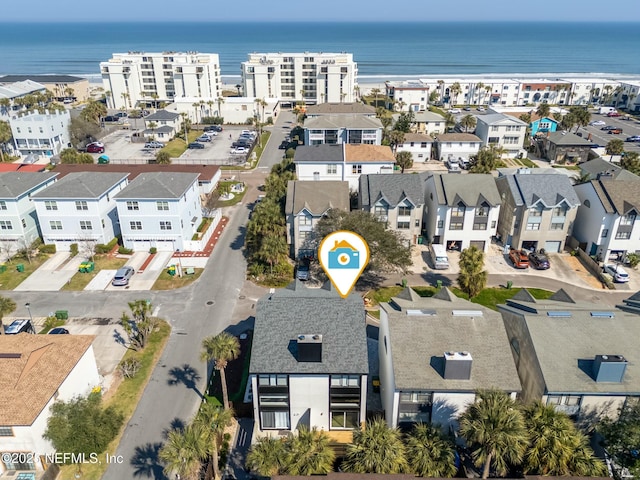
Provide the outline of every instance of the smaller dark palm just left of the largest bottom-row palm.
<path id="1" fill-rule="evenodd" d="M 439 426 L 416 425 L 405 444 L 409 468 L 419 477 L 453 477 L 456 474 L 455 446 Z"/>

